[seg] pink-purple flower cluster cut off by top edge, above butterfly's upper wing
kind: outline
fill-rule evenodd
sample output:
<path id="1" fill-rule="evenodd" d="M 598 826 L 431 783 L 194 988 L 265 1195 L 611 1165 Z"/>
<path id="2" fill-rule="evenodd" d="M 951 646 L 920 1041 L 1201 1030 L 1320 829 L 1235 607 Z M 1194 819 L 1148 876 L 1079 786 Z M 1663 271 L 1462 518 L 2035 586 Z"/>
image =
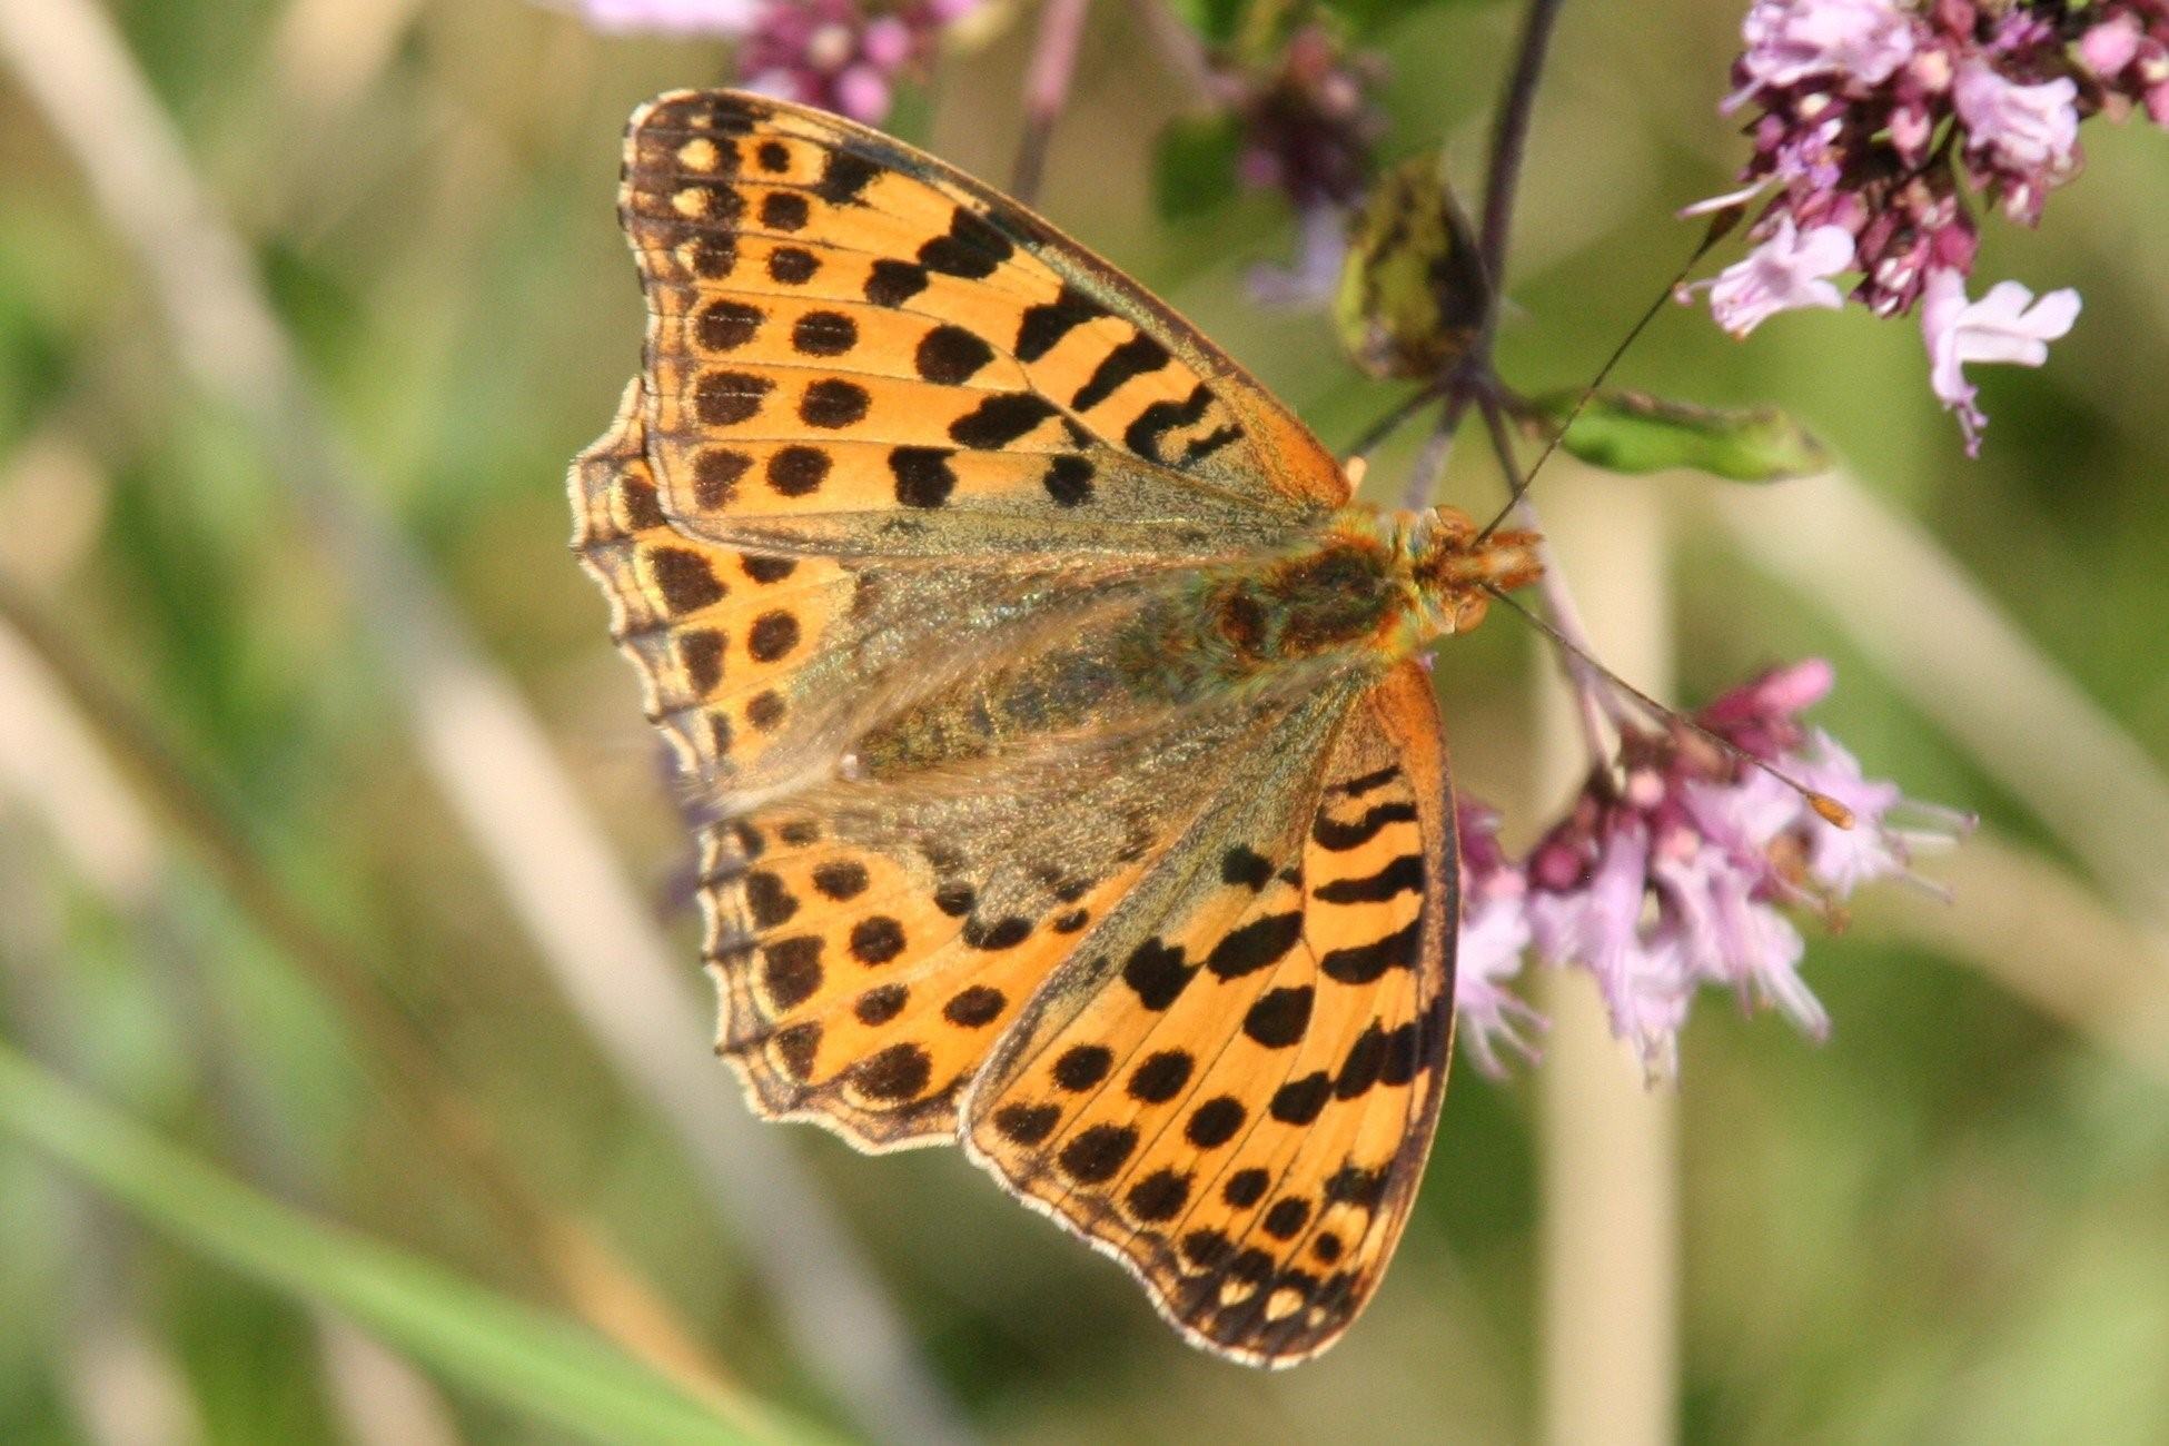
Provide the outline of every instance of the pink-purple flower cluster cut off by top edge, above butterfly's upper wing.
<path id="1" fill-rule="evenodd" d="M 878 126 L 900 76 L 924 69 L 941 30 L 983 0 L 583 0 L 605 30 L 737 41 L 748 89 Z"/>

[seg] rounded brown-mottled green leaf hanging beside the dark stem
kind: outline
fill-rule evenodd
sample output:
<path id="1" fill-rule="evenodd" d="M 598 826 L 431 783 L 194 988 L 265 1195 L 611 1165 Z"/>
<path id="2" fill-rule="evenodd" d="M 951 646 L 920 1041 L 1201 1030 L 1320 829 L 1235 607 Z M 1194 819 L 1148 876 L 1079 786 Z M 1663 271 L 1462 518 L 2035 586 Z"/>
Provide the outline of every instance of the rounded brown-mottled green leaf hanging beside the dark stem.
<path id="1" fill-rule="evenodd" d="M 1475 345 L 1490 288 L 1436 156 L 1371 186 L 1340 264 L 1334 325 L 1375 377 L 1438 377 Z"/>

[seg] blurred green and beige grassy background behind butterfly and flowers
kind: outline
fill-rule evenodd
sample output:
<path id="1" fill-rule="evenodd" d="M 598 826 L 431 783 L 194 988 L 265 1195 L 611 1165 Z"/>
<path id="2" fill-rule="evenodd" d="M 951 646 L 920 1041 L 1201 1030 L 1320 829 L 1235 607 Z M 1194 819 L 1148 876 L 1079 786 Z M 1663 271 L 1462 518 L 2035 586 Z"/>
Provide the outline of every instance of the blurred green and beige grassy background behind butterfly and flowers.
<path id="1" fill-rule="evenodd" d="M 677 1069 L 707 1030 L 681 826 L 564 551 L 560 479 L 638 362 L 620 126 L 657 89 L 720 82 L 724 48 L 514 0 L 113 4 L 310 416 L 258 384 L 245 334 L 176 338 L 115 215 L 137 206 L 184 277 L 219 258 L 143 208 L 184 178 L 113 76 L 39 63 L 24 85 L 24 56 L 80 54 L 63 13 L 82 9 L 0 2 L 0 1437 L 607 1439 L 605 1379 L 659 1400 L 662 1377 L 790 1437 L 1557 1433 L 1544 1403 L 1575 1364 L 1546 1355 L 1540 1223 L 1546 1192 L 1609 1186 L 1540 1169 L 1575 1106 L 1542 1101 L 1540 1071 L 1460 1075 L 1373 1309 L 1262 1377 L 1180 1346 L 954 1151 L 755 1132 L 720 1064 Z M 1390 65 L 1382 156 L 1445 143 L 1479 176 L 1518 7 L 1360 9 Z M 1740 11 L 1566 9 L 1510 267 L 1516 384 L 1583 379 L 1692 247 L 1672 212 L 1742 158 L 1714 113 Z M 41 26 L 46 50 L 24 46 Z M 1030 30 L 1019 13 L 950 54 L 900 130 L 1004 178 Z M 72 98 L 76 137 L 147 169 L 93 193 L 33 95 Z M 1293 249 L 1284 206 L 1154 212 L 1154 139 L 1184 108 L 1137 13 L 1095 7 L 1043 210 L 1347 444 L 1397 392 L 1321 314 L 1245 297 L 1245 267 Z M 1672 308 L 1620 379 L 1779 401 L 1846 481 L 1796 483 L 1789 512 L 1685 477 L 1544 483 L 1583 516 L 1616 496 L 1655 518 L 1627 555 L 1642 592 L 1586 603 L 1599 635 L 1659 609 L 1635 661 L 1677 698 L 1824 653 L 1839 689 L 1818 720 L 1868 772 L 1982 815 L 1926 863 L 1952 906 L 1887 891 L 1811 939 L 1826 1047 L 1698 1010 L 1659 1381 L 1685 1439 L 2169 1439 L 2169 139 L 2093 121 L 2084 141 L 2039 234 L 1985 228 L 1982 282 L 2074 284 L 2087 310 L 2043 371 L 1978 375 L 1980 462 L 1913 323 L 1796 314 L 1737 345 Z M 191 345 L 236 369 L 239 405 Z M 1377 460 L 1382 492 L 1412 451 Z M 1451 492 L 1486 509 L 1497 479 L 1464 453 Z M 1612 542 L 1562 535 L 1570 577 Z M 1494 622 L 1440 679 L 1462 783 L 1525 841 L 1564 798 L 1531 722 L 1542 653 Z M 564 798 L 527 791 L 553 770 Z M 590 898 L 596 878 L 631 891 Z M 638 971 L 627 900 L 685 999 Z M 662 1041 L 646 1077 L 625 1069 L 642 1038 Z M 93 1129 L 59 1080 L 338 1231 L 249 1225 L 260 1199 Z M 1640 1084 L 1622 1064 L 1601 1088 Z M 807 1234 L 807 1201 L 837 1236 Z M 364 1238 L 399 1260 L 358 1264 Z M 842 1279 L 809 1257 L 837 1238 L 857 1242 Z M 1661 1340 L 1672 1305 L 1651 1312 Z M 562 1335 L 573 1316 L 596 1335 Z M 659 1374 L 614 1377 L 627 1357 Z M 640 1439 L 690 1439 L 668 1420 Z"/>

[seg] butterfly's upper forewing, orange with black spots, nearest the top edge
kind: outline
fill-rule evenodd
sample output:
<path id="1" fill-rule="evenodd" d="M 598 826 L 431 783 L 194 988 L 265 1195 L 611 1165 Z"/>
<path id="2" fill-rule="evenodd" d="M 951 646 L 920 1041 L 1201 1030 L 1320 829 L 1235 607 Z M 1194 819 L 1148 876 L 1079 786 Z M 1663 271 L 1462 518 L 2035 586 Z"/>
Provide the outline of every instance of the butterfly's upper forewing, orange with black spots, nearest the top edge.
<path id="1" fill-rule="evenodd" d="M 1317 438 L 1193 327 L 874 130 L 664 95 L 633 117 L 620 210 L 649 293 L 649 451 L 688 529 L 1197 555 L 1347 501 Z"/>

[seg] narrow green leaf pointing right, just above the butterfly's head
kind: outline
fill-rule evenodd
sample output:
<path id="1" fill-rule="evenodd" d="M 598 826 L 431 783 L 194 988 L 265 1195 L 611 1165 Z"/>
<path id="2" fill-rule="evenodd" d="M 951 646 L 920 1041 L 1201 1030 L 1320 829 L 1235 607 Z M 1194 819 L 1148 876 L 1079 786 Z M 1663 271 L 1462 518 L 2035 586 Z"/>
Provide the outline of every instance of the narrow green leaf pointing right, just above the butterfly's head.
<path id="1" fill-rule="evenodd" d="M 1551 392 L 1529 405 L 1557 429 L 1579 399 L 1579 390 Z M 1776 408 L 1696 408 L 1627 390 L 1594 392 L 1560 444 L 1609 473 L 1685 466 L 1731 481 L 1785 481 L 1831 466 L 1822 442 Z"/>

